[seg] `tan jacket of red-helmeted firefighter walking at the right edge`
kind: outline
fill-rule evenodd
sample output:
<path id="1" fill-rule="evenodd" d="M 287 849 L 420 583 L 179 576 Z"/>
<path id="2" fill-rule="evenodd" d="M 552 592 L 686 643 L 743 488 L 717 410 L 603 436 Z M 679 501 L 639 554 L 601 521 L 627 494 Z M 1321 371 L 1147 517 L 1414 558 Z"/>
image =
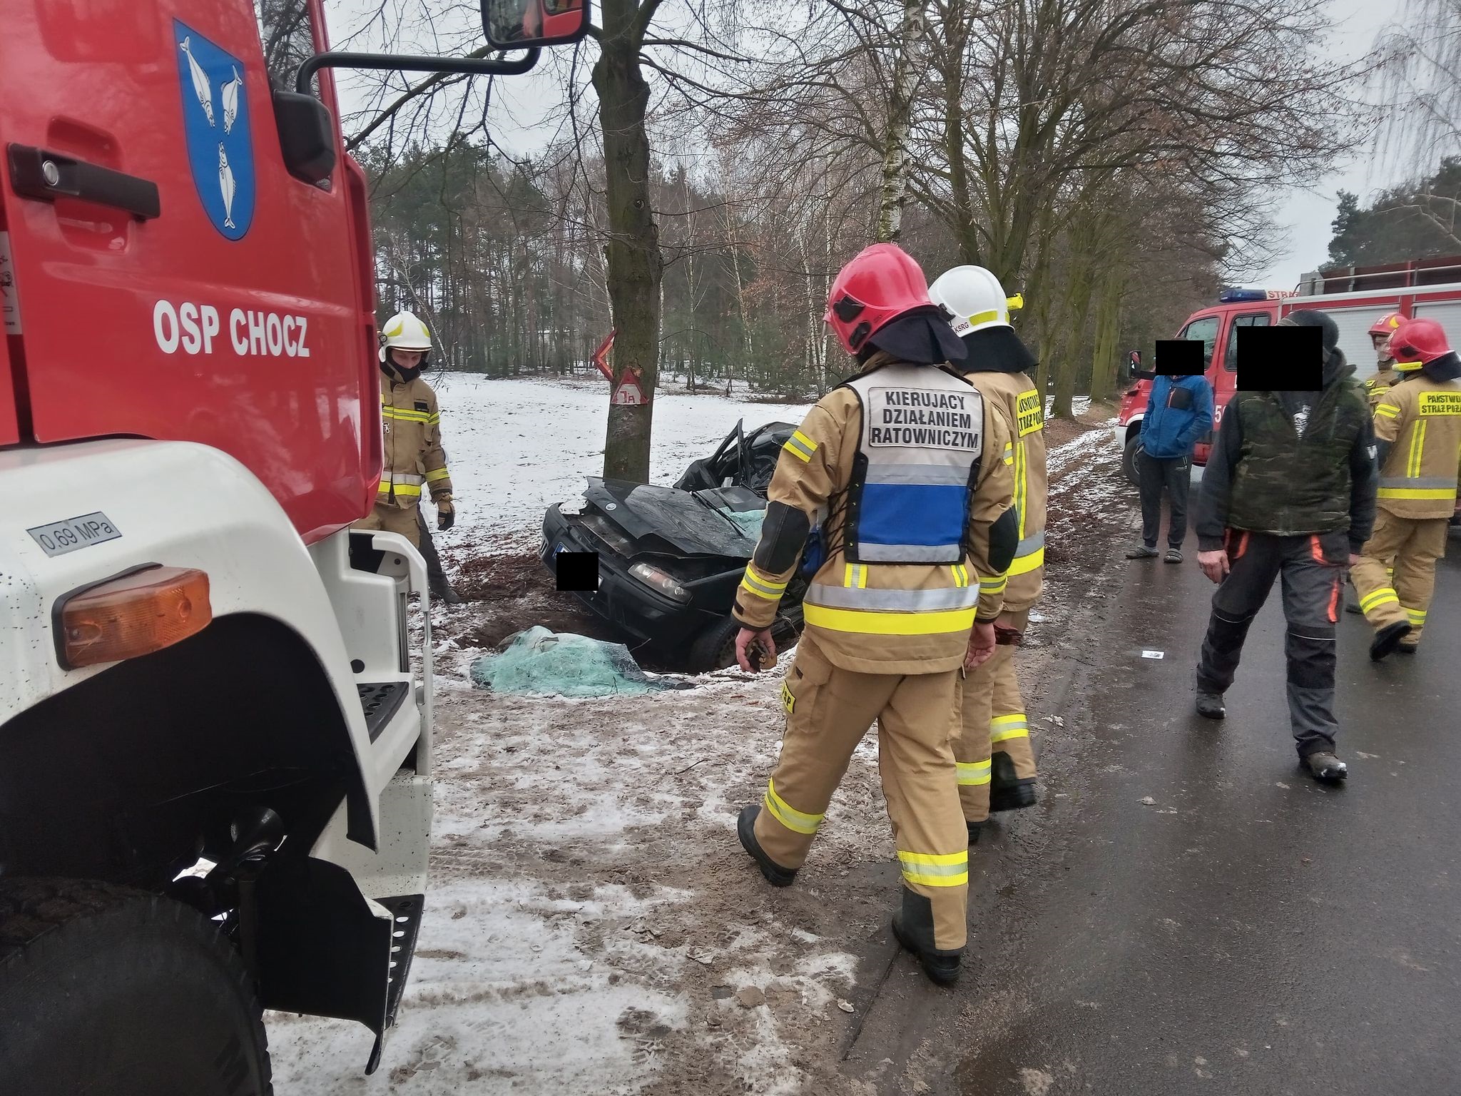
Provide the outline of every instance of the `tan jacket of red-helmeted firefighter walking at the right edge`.
<path id="1" fill-rule="evenodd" d="M 1461 381 L 1411 374 L 1375 405 L 1375 437 L 1389 441 L 1375 504 L 1395 517 L 1449 517 L 1461 465 Z"/>

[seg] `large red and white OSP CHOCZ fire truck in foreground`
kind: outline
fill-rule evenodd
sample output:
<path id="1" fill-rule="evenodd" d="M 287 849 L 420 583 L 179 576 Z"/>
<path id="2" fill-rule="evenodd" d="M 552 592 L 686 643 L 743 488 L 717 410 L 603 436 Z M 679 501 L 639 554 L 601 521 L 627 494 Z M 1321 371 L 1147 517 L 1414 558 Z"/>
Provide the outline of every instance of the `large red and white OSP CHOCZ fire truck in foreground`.
<path id="1" fill-rule="evenodd" d="M 425 894 L 418 552 L 323 0 L 0 4 L 0 1077 L 259 1096 L 262 1008 L 380 1061 Z M 551 35 L 532 37 L 524 26 Z M 507 28 L 504 31 L 503 28 Z M 411 617 L 415 615 L 415 621 Z"/>

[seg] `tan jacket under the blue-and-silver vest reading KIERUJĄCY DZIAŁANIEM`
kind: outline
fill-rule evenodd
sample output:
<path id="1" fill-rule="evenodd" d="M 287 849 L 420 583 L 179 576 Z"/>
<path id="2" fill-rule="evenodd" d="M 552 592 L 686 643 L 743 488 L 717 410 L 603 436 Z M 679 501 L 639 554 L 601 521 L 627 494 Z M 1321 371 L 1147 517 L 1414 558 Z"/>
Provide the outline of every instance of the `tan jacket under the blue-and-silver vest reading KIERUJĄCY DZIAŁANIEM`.
<path id="1" fill-rule="evenodd" d="M 880 352 L 853 380 L 882 365 L 907 368 Z M 935 365 L 916 368 L 939 373 L 939 384 L 951 378 Z M 980 399 L 979 405 L 982 456 L 970 494 L 966 551 L 958 563 L 847 561 L 846 490 L 853 481 L 863 428 L 856 390 L 842 386 L 817 400 L 783 446 L 767 500 L 801 510 L 811 525 L 821 523 L 825 558 L 812 577 L 804 614 L 808 634 L 834 665 L 861 674 L 953 671 L 963 665 L 976 615 L 983 623 L 999 615 L 1005 577 L 993 574 L 989 566 L 989 526 L 1012 504 L 1014 431 L 996 402 Z M 754 558 L 761 558 L 760 552 L 758 544 Z M 777 604 L 799 560 L 770 573 L 754 558 L 736 590 L 733 617 L 748 628 L 761 630 L 776 620 Z"/>

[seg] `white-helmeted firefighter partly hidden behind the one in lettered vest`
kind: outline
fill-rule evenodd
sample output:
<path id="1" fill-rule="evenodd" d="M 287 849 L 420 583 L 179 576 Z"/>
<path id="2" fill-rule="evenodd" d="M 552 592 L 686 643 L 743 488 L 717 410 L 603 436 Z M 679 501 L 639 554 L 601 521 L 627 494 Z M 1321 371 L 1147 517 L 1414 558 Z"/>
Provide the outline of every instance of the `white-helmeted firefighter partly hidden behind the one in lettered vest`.
<path id="1" fill-rule="evenodd" d="M 960 371 L 989 402 L 1004 408 L 1015 428 L 1014 510 L 1018 547 L 1010 564 L 1004 609 L 995 621 L 995 653 L 961 681 L 963 731 L 954 753 L 958 798 L 969 840 L 991 811 L 1031 807 L 1034 750 L 1024 712 L 1014 649 L 1030 624 L 1030 609 L 1045 586 L 1045 408 L 1030 380 L 1034 355 L 1010 323 L 1020 297 L 982 266 L 955 266 L 929 286 L 934 302 L 951 317 L 969 357 Z"/>

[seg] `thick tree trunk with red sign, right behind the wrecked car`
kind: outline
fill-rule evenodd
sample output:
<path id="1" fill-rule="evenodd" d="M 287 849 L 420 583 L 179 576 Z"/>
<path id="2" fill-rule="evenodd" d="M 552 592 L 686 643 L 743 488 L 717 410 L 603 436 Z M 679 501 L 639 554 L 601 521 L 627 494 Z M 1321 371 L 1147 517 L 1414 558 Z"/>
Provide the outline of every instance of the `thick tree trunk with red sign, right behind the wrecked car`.
<path id="1" fill-rule="evenodd" d="M 603 475 L 649 482 L 650 425 L 659 362 L 659 286 L 663 263 L 650 208 L 649 85 L 640 72 L 644 26 L 633 0 L 603 0 L 603 39 L 593 66 L 603 133 L 609 210 L 608 289 L 614 321 L 614 387 L 627 377 L 644 393 L 640 406 L 609 406 Z"/>

